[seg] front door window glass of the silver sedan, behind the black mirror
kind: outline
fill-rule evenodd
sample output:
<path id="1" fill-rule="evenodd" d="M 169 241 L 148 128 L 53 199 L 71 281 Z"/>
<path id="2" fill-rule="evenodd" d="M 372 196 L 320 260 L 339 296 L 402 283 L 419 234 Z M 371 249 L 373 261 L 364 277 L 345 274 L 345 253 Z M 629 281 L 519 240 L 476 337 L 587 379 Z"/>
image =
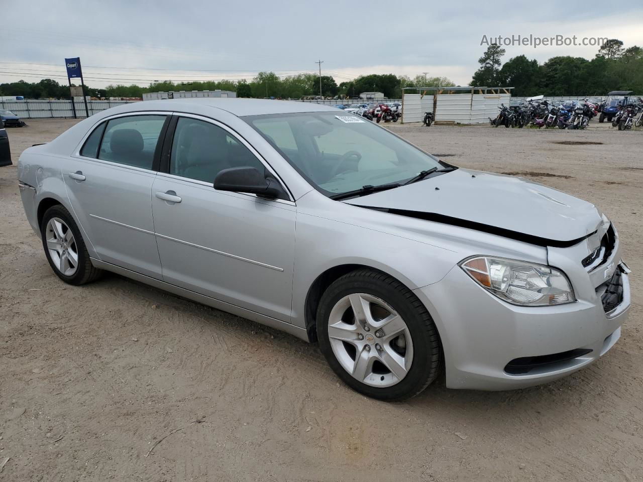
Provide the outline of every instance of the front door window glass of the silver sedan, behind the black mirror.
<path id="1" fill-rule="evenodd" d="M 209 122 L 181 117 L 172 141 L 170 174 L 214 183 L 224 169 L 253 167 L 264 174 L 266 168 L 248 148 L 228 131 Z"/>

